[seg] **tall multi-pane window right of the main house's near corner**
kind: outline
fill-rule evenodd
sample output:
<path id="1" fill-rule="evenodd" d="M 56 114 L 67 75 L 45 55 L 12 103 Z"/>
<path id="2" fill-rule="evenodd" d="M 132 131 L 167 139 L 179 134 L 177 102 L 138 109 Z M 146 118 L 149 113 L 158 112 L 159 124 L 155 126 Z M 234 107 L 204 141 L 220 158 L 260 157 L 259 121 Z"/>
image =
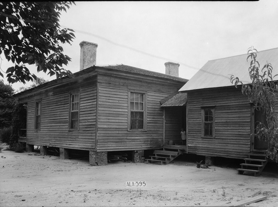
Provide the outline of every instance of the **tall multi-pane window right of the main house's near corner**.
<path id="1" fill-rule="evenodd" d="M 130 125 L 129 129 L 146 129 L 145 94 L 130 92 Z"/>

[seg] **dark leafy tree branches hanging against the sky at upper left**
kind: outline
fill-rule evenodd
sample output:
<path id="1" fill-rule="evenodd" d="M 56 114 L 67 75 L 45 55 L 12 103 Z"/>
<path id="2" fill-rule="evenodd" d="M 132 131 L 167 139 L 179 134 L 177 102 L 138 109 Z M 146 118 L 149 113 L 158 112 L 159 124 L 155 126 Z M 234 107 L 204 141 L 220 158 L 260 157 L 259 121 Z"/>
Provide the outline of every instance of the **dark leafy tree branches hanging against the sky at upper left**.
<path id="1" fill-rule="evenodd" d="M 6 69 L 9 83 L 33 81 L 27 65 L 57 78 L 73 76 L 63 68 L 71 58 L 60 44 L 73 41 L 74 30 L 61 29 L 61 11 L 74 2 L 0 2 L 0 55 L 15 64 Z M 1 69 L 2 70 L 2 69 Z M 4 78 L 3 73 L 0 75 Z"/>

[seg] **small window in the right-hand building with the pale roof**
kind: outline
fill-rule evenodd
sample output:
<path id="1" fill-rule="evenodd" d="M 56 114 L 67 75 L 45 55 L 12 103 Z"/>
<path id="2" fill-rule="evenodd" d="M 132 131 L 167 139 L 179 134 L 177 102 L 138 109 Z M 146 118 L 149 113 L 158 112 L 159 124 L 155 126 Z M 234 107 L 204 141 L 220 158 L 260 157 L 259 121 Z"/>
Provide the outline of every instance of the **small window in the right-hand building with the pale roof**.
<path id="1" fill-rule="evenodd" d="M 214 137 L 214 108 L 202 109 L 202 136 Z"/>

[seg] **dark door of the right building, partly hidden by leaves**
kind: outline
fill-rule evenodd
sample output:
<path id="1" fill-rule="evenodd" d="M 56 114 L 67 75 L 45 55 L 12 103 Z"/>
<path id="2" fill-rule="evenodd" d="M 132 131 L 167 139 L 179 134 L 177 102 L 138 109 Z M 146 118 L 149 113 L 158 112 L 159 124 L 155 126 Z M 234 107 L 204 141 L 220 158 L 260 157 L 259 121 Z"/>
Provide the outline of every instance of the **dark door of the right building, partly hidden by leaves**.
<path id="1" fill-rule="evenodd" d="M 259 124 L 259 122 L 264 123 L 265 125 L 267 125 L 267 120 L 266 120 L 266 116 L 263 114 L 262 110 L 260 107 L 256 107 L 253 106 L 252 107 L 252 119 L 253 119 L 253 124 L 252 124 L 252 132 L 251 133 L 256 133 L 256 127 Z M 252 151 L 255 152 L 264 152 L 266 149 L 268 149 L 268 145 L 269 142 L 265 142 L 263 140 L 260 140 L 258 138 L 254 138 L 254 136 L 252 136 Z"/>

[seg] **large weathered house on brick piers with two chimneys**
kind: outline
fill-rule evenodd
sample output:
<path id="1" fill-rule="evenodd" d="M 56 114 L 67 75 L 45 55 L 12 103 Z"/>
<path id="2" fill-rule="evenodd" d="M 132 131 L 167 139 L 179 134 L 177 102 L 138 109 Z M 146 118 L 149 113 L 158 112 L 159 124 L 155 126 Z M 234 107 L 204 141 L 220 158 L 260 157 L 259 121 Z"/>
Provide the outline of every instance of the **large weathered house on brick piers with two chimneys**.
<path id="1" fill-rule="evenodd" d="M 107 164 L 107 152 L 132 151 L 142 161 L 144 150 L 163 145 L 160 101 L 188 81 L 176 77 L 178 66 L 167 62 L 166 73 L 128 65 L 96 65 L 97 44 L 81 42 L 80 71 L 73 78 L 47 82 L 15 95 L 27 105 L 28 150 L 41 146 L 89 151 L 91 165 Z M 173 74 L 173 75 L 172 75 Z M 24 134 L 24 133 L 23 133 Z"/>

